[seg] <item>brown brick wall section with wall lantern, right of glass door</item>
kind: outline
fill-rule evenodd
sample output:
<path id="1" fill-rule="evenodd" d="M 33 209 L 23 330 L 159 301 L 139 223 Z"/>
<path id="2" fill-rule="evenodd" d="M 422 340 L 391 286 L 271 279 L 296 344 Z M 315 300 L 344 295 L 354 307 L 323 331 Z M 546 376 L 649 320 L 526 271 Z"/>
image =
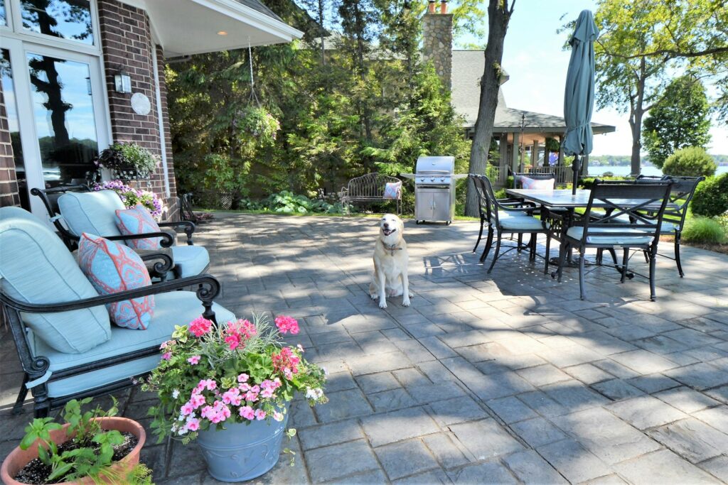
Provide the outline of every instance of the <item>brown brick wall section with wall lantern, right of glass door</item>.
<path id="1" fill-rule="evenodd" d="M 130 7 L 116 0 L 98 0 L 101 47 L 106 68 L 106 88 L 111 116 L 111 134 L 114 142 L 133 141 L 161 156 L 159 119 L 157 119 L 157 93 L 154 85 L 154 64 L 152 55 L 157 56 L 159 63 L 159 88 L 162 92 L 164 107 L 164 133 L 167 140 L 167 167 L 170 177 L 170 198 L 166 199 L 167 219 L 178 217 L 176 207 L 174 169 L 170 150 L 169 121 L 167 119 L 166 86 L 164 84 L 164 63 L 161 49 L 151 39 L 149 17 L 141 9 Z M 147 115 L 138 115 L 131 108 L 131 94 L 116 92 L 114 75 L 119 71 L 129 73 L 132 81 L 132 93 L 141 92 L 149 97 L 151 111 Z M 140 188 L 157 193 L 165 198 L 165 177 L 163 167 L 151 175 L 149 181 L 138 183 Z"/>

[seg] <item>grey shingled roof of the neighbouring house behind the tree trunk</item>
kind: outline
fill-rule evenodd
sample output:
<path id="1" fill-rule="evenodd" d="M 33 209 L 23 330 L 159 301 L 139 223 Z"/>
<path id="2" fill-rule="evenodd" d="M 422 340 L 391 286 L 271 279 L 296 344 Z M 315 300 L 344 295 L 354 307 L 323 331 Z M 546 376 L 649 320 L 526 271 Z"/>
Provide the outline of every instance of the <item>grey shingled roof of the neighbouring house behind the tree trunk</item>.
<path id="1" fill-rule="evenodd" d="M 452 104 L 455 111 L 465 117 L 464 127 L 475 126 L 478 119 L 480 103 L 480 78 L 486 57 L 482 50 L 454 50 L 452 71 Z M 504 82 L 507 81 L 507 75 Z M 508 108 L 502 89 L 498 89 L 498 107 L 493 126 L 494 132 L 516 132 L 521 130 L 521 114 L 526 115 L 526 127 L 523 132 L 543 133 L 566 131 L 566 124 L 561 116 L 553 116 L 533 111 Z M 595 133 L 613 132 L 614 127 L 606 124 L 592 123 Z"/>

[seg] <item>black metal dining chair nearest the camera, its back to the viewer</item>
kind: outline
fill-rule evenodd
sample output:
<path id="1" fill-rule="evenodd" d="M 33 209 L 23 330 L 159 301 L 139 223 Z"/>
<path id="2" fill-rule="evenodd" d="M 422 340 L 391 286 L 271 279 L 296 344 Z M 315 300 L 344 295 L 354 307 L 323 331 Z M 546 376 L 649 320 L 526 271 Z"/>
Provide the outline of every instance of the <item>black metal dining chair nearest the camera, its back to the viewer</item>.
<path id="1" fill-rule="evenodd" d="M 668 181 L 636 184 L 603 183 L 601 180 L 595 180 L 585 213 L 593 213 L 595 202 L 606 207 L 608 212 L 599 219 L 582 217 L 576 225 L 566 231 L 558 254 L 558 281 L 561 281 L 566 253 L 571 248 L 578 249 L 579 296 L 585 300 L 584 268 L 587 249 L 595 248 L 600 251 L 621 248 L 622 265 L 617 266 L 617 269 L 622 273 L 620 279 L 622 282 L 628 273 L 630 249 L 642 249 L 649 258 L 650 300 L 654 301 L 657 243 L 660 241 L 660 227 L 671 185 L 672 183 Z"/>

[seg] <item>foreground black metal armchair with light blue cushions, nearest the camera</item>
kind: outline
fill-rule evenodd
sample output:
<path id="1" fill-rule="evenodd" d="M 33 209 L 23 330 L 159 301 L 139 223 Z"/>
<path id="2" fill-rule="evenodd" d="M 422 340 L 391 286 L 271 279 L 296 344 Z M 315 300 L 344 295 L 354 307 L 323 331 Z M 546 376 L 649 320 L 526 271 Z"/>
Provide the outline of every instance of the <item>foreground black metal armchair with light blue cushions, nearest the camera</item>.
<path id="1" fill-rule="evenodd" d="M 17 207 L 0 209 L 0 247 L 0 307 L 25 374 L 15 412 L 28 389 L 40 417 L 73 398 L 128 387 L 157 366 L 159 345 L 175 325 L 200 315 L 235 318 L 213 303 L 220 284 L 207 274 L 99 296 L 58 236 Z M 197 292 L 174 291 L 190 286 Z M 146 330 L 110 323 L 104 305 L 151 294 L 155 308 Z"/>

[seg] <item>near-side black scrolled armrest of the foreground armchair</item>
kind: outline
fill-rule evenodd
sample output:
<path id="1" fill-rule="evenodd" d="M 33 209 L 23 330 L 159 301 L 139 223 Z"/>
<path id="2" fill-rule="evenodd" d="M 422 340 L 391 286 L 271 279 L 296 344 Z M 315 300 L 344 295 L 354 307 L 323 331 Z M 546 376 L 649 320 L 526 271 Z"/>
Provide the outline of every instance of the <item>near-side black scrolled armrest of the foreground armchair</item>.
<path id="1" fill-rule="evenodd" d="M 197 298 L 202 302 L 205 311 L 202 316 L 208 320 L 215 321 L 215 313 L 213 312 L 213 300 L 220 294 L 220 282 L 212 275 L 202 274 L 198 276 L 190 276 L 189 278 L 179 278 L 173 281 L 163 281 L 162 283 L 151 286 L 142 286 L 141 288 L 129 289 L 124 292 L 104 294 L 98 297 L 84 298 L 83 300 L 75 300 L 72 302 L 44 303 L 36 305 L 33 303 L 25 303 L 15 300 L 7 294 L 0 293 L 0 301 L 11 308 L 15 308 L 25 313 L 56 313 L 62 311 L 81 310 L 82 308 L 92 308 L 108 303 L 120 302 L 124 300 L 132 300 L 132 298 L 146 297 L 150 294 L 159 294 L 173 291 L 175 289 L 183 289 L 187 286 L 199 285 L 197 287 Z"/>

